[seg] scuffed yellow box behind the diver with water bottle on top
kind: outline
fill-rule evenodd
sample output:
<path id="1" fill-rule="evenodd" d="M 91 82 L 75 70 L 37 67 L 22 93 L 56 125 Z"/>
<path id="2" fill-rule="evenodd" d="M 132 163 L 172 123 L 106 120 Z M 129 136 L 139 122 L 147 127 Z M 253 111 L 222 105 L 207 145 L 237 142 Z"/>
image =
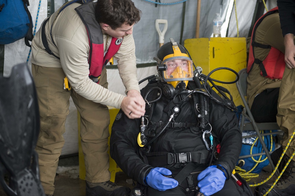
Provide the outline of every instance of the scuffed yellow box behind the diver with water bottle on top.
<path id="1" fill-rule="evenodd" d="M 186 39 L 184 46 L 189 51 L 196 67 L 202 67 L 202 73 L 205 75 L 208 75 L 217 67 L 229 67 L 238 72 L 247 66 L 245 37 Z M 236 75 L 228 70 L 218 70 L 210 77 L 224 82 L 231 82 L 235 80 Z M 243 105 L 236 84 L 214 83 L 230 91 L 236 106 Z"/>

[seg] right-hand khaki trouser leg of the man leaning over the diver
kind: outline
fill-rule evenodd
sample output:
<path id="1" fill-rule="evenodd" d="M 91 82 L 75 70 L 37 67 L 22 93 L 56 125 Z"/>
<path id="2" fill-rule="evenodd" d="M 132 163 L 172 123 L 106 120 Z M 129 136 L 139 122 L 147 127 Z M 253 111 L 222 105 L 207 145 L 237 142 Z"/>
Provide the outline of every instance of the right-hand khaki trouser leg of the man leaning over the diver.
<path id="1" fill-rule="evenodd" d="M 100 82 L 107 87 L 106 69 Z M 86 167 L 86 181 L 105 182 L 111 179 L 109 172 L 109 109 L 105 105 L 92 102 L 72 90 L 71 97 L 81 116 L 81 146 Z"/>

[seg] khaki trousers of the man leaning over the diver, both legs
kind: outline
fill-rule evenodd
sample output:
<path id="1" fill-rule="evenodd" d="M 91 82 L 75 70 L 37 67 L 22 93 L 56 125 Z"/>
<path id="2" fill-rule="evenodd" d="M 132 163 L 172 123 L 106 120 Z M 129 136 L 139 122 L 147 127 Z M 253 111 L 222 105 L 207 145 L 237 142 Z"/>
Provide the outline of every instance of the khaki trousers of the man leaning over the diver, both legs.
<path id="1" fill-rule="evenodd" d="M 65 74 L 62 68 L 48 68 L 32 64 L 39 110 L 40 133 L 36 151 L 39 155 L 40 180 L 45 194 L 54 192 L 54 178 L 65 142 L 65 119 L 69 114 L 70 96 L 81 115 L 81 146 L 86 166 L 86 180 L 110 180 L 107 144 L 110 116 L 108 107 L 92 102 L 73 89 L 63 89 Z M 106 69 L 101 73 L 100 85 L 107 88 Z"/>

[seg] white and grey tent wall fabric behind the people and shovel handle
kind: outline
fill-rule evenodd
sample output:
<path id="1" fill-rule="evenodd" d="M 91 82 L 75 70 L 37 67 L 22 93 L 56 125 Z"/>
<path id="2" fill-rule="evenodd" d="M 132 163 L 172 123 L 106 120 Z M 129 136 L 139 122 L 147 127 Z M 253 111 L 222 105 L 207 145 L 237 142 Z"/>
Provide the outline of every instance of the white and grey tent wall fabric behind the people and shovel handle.
<path id="1" fill-rule="evenodd" d="M 29 0 L 28 7 L 35 21 L 40 0 Z M 47 17 L 47 2 L 51 0 L 41 0 L 40 11 L 36 31 L 40 28 L 43 20 Z M 54 0 L 55 10 L 57 10 L 67 0 Z M 196 17 L 197 17 L 197 0 L 160 0 L 161 4 L 155 4 L 156 0 L 132 0 L 137 8 L 142 11 L 141 20 L 135 24 L 133 29 L 133 37 L 135 39 L 137 64 L 153 63 L 153 57 L 159 48 L 158 33 L 155 29 L 156 19 L 166 19 L 168 21 L 168 29 L 165 33 L 165 43 L 173 38 L 178 43 L 183 43 L 185 39 L 195 38 L 196 34 Z M 157 1 L 158 2 L 158 1 Z M 178 3 L 181 2 L 181 3 Z M 237 36 L 237 22 L 235 16 L 234 0 L 203 0 L 201 1 L 199 37 L 210 37 L 212 35 L 212 21 L 215 13 L 220 13 L 225 29 L 222 36 L 225 36 L 228 26 L 228 37 Z M 257 0 L 236 0 L 237 19 L 239 27 L 239 37 L 247 37 L 253 18 L 255 4 Z M 167 4 L 167 5 L 164 5 Z M 183 5 L 185 6 L 185 18 L 183 24 L 183 35 L 181 40 L 181 26 Z M 267 1 L 267 8 L 271 9 L 276 6 L 276 0 Z M 232 9 L 232 10 L 227 10 Z M 230 18 L 227 13 L 230 14 Z M 160 29 L 163 28 L 160 26 Z M 24 40 L 16 41 L 12 44 L 4 46 L 4 76 L 10 75 L 11 68 L 19 63 L 27 61 L 30 48 L 25 46 Z M 31 56 L 31 55 L 30 55 Z M 31 59 L 28 60 L 28 66 L 31 68 Z M 138 68 L 138 80 L 150 75 L 156 74 L 156 68 L 143 67 Z M 107 69 L 109 81 L 109 89 L 124 94 L 124 86 L 119 77 L 117 69 Z M 146 82 L 142 83 L 143 87 Z M 78 131 L 77 131 L 77 112 L 75 106 L 70 105 L 70 114 L 66 122 L 66 133 L 64 134 L 65 146 L 62 155 L 68 155 L 78 152 Z"/>

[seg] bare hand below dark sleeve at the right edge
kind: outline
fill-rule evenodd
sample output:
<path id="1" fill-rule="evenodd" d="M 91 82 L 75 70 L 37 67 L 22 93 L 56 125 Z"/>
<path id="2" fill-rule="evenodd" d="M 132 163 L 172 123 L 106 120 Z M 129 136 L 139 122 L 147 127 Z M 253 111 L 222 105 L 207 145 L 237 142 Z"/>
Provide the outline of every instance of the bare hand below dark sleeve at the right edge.
<path id="1" fill-rule="evenodd" d="M 292 69 L 295 67 L 295 45 L 294 45 L 294 35 L 287 34 L 284 36 L 285 44 L 285 62 L 288 68 Z"/>

